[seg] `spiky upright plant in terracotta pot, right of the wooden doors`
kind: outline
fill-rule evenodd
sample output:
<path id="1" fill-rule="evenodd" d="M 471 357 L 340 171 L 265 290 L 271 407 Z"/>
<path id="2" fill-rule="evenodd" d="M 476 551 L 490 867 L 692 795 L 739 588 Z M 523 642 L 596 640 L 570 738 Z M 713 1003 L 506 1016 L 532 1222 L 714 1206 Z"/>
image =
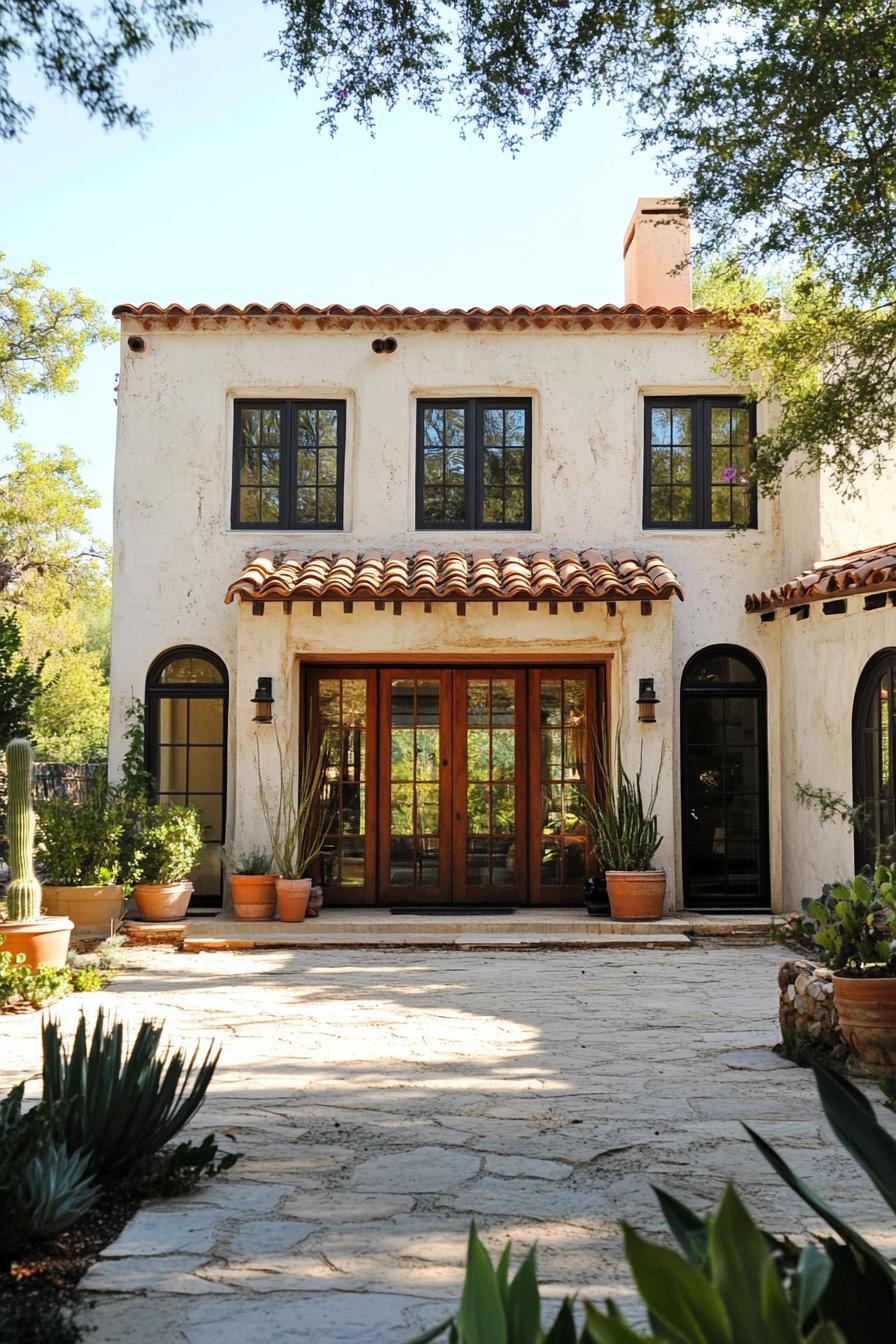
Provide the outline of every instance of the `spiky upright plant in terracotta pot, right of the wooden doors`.
<path id="1" fill-rule="evenodd" d="M 594 851 L 600 864 L 614 919 L 661 919 L 666 896 L 666 875 L 650 860 L 662 844 L 656 806 L 662 754 L 653 789 L 645 802 L 641 789 L 643 763 L 634 778 L 622 763 L 617 731 L 615 769 L 606 747 L 596 745 L 599 797 L 582 790 L 582 809 L 588 818 Z"/>

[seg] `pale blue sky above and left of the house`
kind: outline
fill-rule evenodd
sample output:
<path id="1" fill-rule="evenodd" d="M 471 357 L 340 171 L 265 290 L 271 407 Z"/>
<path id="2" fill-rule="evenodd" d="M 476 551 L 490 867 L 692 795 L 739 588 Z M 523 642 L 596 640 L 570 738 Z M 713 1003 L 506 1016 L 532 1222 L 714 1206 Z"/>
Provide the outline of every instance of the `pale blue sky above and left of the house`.
<path id="1" fill-rule="evenodd" d="M 207 7 L 196 47 L 137 62 L 128 93 L 145 136 L 103 132 L 74 103 L 21 81 L 36 103 L 19 144 L 0 142 L 7 265 L 38 258 L 50 282 L 117 302 L 618 302 L 622 233 L 637 196 L 672 190 L 625 136 L 615 108 L 583 108 L 516 159 L 497 137 L 461 140 L 404 106 L 376 137 L 316 129 L 265 59 L 279 11 Z M 111 535 L 118 366 L 94 351 L 69 396 L 30 398 L 15 438 L 70 445 L 102 493 Z M 0 457 L 13 437 L 0 430 Z"/>

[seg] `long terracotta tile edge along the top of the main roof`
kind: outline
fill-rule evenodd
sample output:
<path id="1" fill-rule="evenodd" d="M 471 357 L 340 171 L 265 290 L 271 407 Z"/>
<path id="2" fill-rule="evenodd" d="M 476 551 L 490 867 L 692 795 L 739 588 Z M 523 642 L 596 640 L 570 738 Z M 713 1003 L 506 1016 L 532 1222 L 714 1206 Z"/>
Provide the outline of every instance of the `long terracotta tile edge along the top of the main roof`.
<path id="1" fill-rule="evenodd" d="M 313 304 L 118 304 L 113 317 L 140 323 L 145 331 L 154 328 L 176 331 L 179 328 L 215 331 L 220 327 L 238 324 L 243 327 L 273 327 L 302 331 L 527 331 L 528 328 L 555 328 L 560 331 L 615 331 L 617 328 L 703 328 L 723 325 L 724 320 L 709 308 L 641 308 L 638 304 L 559 304 L 556 308 L 539 304 L 535 308 L 395 308 L 384 304 L 382 308 L 361 305 L 345 308 L 343 304 L 328 304 L 316 308 Z"/>

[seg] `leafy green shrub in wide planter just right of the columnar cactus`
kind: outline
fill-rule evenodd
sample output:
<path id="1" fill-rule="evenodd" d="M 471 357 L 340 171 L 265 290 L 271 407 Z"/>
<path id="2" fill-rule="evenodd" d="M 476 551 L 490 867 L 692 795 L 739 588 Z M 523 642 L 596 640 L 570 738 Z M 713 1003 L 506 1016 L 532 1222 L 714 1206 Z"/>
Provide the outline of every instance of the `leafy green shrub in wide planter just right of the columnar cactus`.
<path id="1" fill-rule="evenodd" d="M 105 780 L 83 801 L 51 798 L 38 806 L 38 862 L 52 887 L 91 887 L 118 880 L 125 808 Z"/>

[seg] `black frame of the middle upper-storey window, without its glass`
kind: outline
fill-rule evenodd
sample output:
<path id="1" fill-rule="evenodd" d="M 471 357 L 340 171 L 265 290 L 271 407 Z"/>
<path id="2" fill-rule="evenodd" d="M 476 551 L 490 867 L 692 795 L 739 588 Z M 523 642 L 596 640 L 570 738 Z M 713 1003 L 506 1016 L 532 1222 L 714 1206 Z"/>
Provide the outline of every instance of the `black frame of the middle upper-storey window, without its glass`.
<path id="1" fill-rule="evenodd" d="M 423 513 L 423 417 L 427 410 L 463 407 L 463 520 L 438 523 Z M 521 523 L 486 523 L 482 517 L 485 495 L 485 411 L 493 409 L 525 411 L 523 435 L 523 496 Z M 532 398 L 531 396 L 418 396 L 415 449 L 415 530 L 418 532 L 531 532 L 532 531 Z"/>

